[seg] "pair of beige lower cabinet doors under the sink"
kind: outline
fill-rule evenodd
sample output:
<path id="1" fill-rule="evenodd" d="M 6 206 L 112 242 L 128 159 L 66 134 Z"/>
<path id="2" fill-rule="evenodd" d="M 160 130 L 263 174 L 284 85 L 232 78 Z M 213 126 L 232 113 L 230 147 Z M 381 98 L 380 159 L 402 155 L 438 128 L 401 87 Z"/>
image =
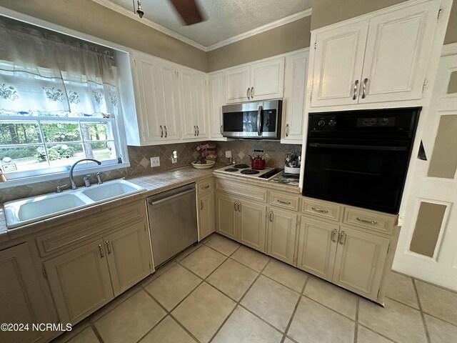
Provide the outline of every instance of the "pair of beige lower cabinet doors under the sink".
<path id="1" fill-rule="evenodd" d="M 61 322 L 76 324 L 151 273 L 144 222 L 44 262 Z"/>

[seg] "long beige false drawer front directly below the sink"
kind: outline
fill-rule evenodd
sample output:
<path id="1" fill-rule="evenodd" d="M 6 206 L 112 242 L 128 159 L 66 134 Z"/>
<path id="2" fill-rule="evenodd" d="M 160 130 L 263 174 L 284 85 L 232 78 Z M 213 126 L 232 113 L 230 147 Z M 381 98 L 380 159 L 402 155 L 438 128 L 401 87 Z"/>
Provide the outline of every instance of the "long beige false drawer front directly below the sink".
<path id="1" fill-rule="evenodd" d="M 133 224 L 146 219 L 144 200 L 91 214 L 86 218 L 62 225 L 62 229 L 36 237 L 39 254 L 45 257 L 64 249 L 79 247 L 88 240 L 98 239 L 111 227 Z"/>

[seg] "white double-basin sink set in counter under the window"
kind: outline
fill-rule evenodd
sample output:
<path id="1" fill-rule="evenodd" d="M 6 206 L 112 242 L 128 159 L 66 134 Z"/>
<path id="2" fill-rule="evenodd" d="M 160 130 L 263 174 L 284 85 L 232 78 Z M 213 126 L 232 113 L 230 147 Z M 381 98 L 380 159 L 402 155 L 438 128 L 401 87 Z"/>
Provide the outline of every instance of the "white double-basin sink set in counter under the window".
<path id="1" fill-rule="evenodd" d="M 94 184 L 91 187 L 6 202 L 4 204 L 6 227 L 14 229 L 21 225 L 38 222 L 144 190 L 136 184 L 119 179 L 104 184 Z"/>

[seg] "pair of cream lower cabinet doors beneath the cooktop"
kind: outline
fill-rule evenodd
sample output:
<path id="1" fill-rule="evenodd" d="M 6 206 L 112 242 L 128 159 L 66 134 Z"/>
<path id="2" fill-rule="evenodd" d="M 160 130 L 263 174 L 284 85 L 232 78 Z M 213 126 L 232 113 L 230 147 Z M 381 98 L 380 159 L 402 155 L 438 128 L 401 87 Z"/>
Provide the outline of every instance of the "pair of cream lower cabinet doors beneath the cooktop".
<path id="1" fill-rule="evenodd" d="M 265 252 L 266 205 L 216 193 L 216 214 L 217 232 Z"/>

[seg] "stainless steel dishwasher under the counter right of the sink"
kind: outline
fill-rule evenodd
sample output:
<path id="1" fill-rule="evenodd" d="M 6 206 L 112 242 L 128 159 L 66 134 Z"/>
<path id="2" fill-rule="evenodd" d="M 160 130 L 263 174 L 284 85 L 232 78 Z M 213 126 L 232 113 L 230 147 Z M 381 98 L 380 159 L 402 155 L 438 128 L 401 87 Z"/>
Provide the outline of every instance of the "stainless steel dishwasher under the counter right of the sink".
<path id="1" fill-rule="evenodd" d="M 198 240 L 195 184 L 153 195 L 146 201 L 154 266 L 159 267 Z"/>

